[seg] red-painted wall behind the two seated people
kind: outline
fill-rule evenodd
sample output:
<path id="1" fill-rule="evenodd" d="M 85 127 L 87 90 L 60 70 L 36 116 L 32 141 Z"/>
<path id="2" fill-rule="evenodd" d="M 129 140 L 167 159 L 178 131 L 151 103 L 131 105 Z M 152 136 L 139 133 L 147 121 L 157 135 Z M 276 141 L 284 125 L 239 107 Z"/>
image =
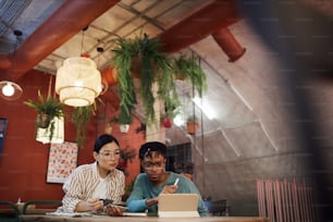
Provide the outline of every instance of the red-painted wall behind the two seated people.
<path id="1" fill-rule="evenodd" d="M 50 144 L 41 144 L 35 140 L 35 118 L 36 111 L 25 106 L 27 99 L 37 100 L 37 91 L 47 94 L 49 74 L 36 70 L 29 71 L 23 78 L 17 81 L 24 92 L 14 101 L 0 100 L 0 116 L 8 119 L 8 128 L 0 156 L 0 199 L 27 201 L 32 199 L 61 199 L 63 197 L 62 184 L 47 183 L 47 168 Z M 53 82 L 54 84 L 54 82 Z M 96 137 L 103 132 L 104 118 L 112 116 L 113 109 L 104 110 L 94 116 L 87 126 L 86 140 L 78 149 L 77 164 L 90 163 L 92 148 Z M 112 135 L 121 145 L 121 148 L 138 150 L 145 141 L 144 133 L 136 133 L 140 126 L 137 119 L 134 119 L 127 134 L 120 133 L 115 124 L 112 124 Z M 75 141 L 76 128 L 73 123 L 65 120 L 65 140 Z M 126 183 L 139 172 L 138 159 L 128 162 L 126 169 Z"/>

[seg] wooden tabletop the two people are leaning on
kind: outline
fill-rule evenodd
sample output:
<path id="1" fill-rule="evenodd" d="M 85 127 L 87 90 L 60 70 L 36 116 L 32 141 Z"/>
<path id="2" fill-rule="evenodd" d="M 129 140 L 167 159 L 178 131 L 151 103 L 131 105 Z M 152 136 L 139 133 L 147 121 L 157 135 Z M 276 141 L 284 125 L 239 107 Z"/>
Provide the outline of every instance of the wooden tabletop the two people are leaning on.
<path id="1" fill-rule="evenodd" d="M 206 217 L 206 218 L 157 218 L 157 217 L 82 217 L 69 218 L 59 215 L 24 214 L 22 222 L 269 222 L 266 218 L 247 217 Z"/>

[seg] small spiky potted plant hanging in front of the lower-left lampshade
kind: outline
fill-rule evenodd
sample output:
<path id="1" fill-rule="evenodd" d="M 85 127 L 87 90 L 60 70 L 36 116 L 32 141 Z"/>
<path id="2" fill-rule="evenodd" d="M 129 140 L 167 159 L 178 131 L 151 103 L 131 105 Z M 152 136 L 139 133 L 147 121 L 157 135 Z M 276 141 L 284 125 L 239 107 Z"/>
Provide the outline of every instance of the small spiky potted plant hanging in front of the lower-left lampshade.
<path id="1" fill-rule="evenodd" d="M 57 98 L 50 95 L 45 97 L 40 91 L 38 91 L 38 100 L 33 101 L 29 99 L 24 101 L 24 103 L 38 112 L 36 118 L 36 132 L 38 127 L 46 128 L 46 133 L 50 131 L 49 140 L 52 140 L 54 132 L 54 121 L 52 120 L 63 116 L 64 106 Z"/>

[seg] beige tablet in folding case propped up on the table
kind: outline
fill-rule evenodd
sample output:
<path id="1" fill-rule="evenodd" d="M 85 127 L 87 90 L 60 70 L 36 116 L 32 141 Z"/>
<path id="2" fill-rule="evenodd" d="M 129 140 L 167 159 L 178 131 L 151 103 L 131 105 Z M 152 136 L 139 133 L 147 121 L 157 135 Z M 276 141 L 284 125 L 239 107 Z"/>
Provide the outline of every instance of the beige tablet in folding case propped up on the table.
<path id="1" fill-rule="evenodd" d="M 198 218 L 197 194 L 160 194 L 159 218 Z"/>

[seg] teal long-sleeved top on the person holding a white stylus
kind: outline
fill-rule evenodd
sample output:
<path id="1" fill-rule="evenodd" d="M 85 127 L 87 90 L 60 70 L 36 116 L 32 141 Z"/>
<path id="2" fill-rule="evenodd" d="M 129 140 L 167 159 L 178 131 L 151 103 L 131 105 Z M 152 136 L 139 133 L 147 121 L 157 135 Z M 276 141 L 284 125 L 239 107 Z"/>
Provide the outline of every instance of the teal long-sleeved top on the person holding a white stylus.
<path id="1" fill-rule="evenodd" d="M 177 194 L 198 194 L 198 212 L 200 217 L 208 215 L 208 210 L 205 207 L 201 195 L 196 185 L 187 177 L 170 172 L 170 176 L 164 184 L 156 186 L 152 184 L 146 173 L 141 173 L 136 177 L 133 192 L 126 200 L 130 212 L 145 212 L 148 210 L 149 214 L 157 214 L 158 206 L 153 205 L 147 207 L 146 199 L 155 198 L 159 196 L 165 185 L 173 185 L 176 178 L 180 178 L 177 186 Z"/>

